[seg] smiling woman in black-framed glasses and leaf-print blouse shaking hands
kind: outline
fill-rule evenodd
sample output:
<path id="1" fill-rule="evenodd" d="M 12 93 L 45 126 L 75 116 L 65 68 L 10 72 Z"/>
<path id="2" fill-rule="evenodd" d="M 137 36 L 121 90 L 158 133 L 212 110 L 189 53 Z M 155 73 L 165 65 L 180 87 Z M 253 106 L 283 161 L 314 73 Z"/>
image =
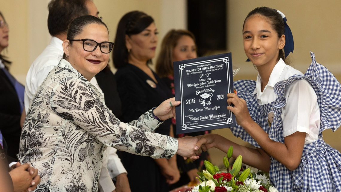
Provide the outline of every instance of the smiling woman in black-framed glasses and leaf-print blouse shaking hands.
<path id="1" fill-rule="evenodd" d="M 40 169 L 42 182 L 37 190 L 97 192 L 107 146 L 153 158 L 176 153 L 198 157 L 196 138 L 152 133 L 174 116 L 175 107 L 170 104 L 180 104 L 174 98 L 130 123 L 118 120 L 104 105 L 103 96 L 89 81 L 108 63 L 113 49 L 108 41 L 108 29 L 99 18 L 75 18 L 63 42 L 63 59 L 33 97 L 18 159 Z"/>

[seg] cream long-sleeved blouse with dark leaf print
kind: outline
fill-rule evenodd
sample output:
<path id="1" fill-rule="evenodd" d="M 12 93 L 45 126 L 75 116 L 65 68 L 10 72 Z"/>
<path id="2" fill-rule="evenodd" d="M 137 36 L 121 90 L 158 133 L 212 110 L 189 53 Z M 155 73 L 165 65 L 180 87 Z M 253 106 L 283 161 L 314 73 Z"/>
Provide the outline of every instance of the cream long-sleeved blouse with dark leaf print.
<path id="1" fill-rule="evenodd" d="M 159 125 L 152 110 L 120 122 L 98 90 L 61 59 L 33 97 L 18 159 L 39 169 L 38 192 L 97 192 L 107 146 L 153 158 L 176 153 L 177 139 L 152 133 Z"/>

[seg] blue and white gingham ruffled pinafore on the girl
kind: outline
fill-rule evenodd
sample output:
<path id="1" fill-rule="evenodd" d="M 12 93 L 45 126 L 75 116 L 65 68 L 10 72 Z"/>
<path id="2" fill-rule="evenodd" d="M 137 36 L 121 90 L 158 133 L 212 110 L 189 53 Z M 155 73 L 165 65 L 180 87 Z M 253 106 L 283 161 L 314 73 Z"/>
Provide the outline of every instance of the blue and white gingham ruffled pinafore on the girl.
<path id="1" fill-rule="evenodd" d="M 324 66 L 316 63 L 315 54 L 311 52 L 312 64 L 304 76 L 294 75 L 287 80 L 276 83 L 274 87 L 277 99 L 266 105 L 259 105 L 255 94 L 252 94 L 256 82 L 240 80 L 234 82 L 238 96 L 247 101 L 252 119 L 258 123 L 269 138 L 284 143 L 281 108 L 285 106 L 285 87 L 296 80 L 307 80 L 313 87 L 320 107 L 321 126 L 319 139 L 304 146 L 300 165 L 290 171 L 283 164 L 271 157 L 270 179 L 280 192 L 286 191 L 341 191 L 341 154 L 333 149 L 322 138 L 326 129 L 336 131 L 341 124 L 341 85 Z M 271 126 L 268 122 L 269 112 L 275 117 Z M 244 141 L 259 147 L 258 143 L 239 125 L 231 128 L 232 133 Z"/>

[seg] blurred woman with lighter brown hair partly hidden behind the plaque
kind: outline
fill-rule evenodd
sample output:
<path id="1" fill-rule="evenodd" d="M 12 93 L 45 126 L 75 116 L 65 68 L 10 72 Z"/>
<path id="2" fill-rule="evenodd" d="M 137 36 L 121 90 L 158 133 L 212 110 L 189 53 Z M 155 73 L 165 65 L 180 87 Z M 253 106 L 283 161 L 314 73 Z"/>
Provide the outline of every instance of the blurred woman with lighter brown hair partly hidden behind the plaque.
<path id="1" fill-rule="evenodd" d="M 172 91 L 173 96 L 175 95 L 173 62 L 196 57 L 195 37 L 192 32 L 182 29 L 172 29 L 167 32 L 161 43 L 161 50 L 156 62 L 155 70 L 159 77 L 167 84 L 169 90 Z M 175 135 L 176 121 L 174 118 L 172 118 L 172 126 Z M 198 136 L 207 133 L 209 132 L 201 131 L 186 135 Z M 184 134 L 176 135 L 177 138 L 184 136 Z M 190 159 L 184 160 L 180 156 L 177 156 L 177 165 L 181 177 L 177 183 L 171 186 L 171 188 L 182 186 L 190 181 L 197 181 L 196 177 L 199 177 L 197 173 L 202 170 L 204 160 L 209 160 L 208 152 L 203 152 L 200 155 L 199 160 L 194 162 Z"/>

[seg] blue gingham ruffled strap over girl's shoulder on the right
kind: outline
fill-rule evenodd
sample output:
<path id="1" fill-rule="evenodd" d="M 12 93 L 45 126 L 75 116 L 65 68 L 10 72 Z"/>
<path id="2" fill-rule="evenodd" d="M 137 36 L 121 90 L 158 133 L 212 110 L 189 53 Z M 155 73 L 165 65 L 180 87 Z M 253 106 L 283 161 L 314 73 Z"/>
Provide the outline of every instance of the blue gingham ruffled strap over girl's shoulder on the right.
<path id="1" fill-rule="evenodd" d="M 326 129 L 336 131 L 341 125 L 341 85 L 333 74 L 323 65 L 316 63 L 315 54 L 310 52 L 312 63 L 307 72 L 301 75 L 294 75 L 287 80 L 276 83 L 274 87 L 275 93 L 278 95 L 276 104 L 273 107 L 275 113 L 274 122 L 281 114 L 281 108 L 285 106 L 286 99 L 284 97 L 285 87 L 296 80 L 305 79 L 314 89 L 317 95 L 317 103 L 320 107 L 321 126 L 320 133 Z M 269 137 L 279 139 L 276 136 L 276 130 L 281 125 L 280 121 L 273 124 Z M 277 127 L 277 128 L 276 128 Z M 281 140 L 281 139 L 280 139 Z"/>

